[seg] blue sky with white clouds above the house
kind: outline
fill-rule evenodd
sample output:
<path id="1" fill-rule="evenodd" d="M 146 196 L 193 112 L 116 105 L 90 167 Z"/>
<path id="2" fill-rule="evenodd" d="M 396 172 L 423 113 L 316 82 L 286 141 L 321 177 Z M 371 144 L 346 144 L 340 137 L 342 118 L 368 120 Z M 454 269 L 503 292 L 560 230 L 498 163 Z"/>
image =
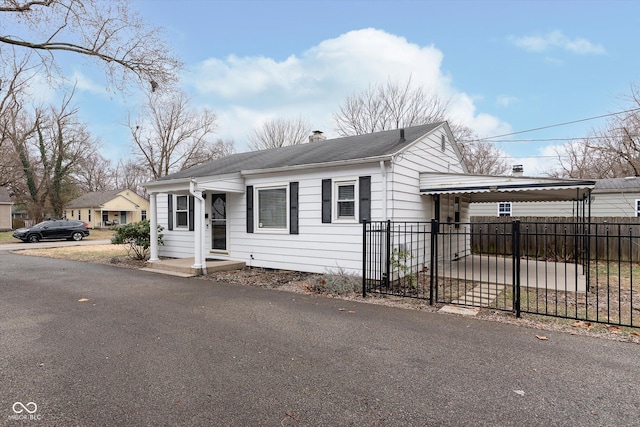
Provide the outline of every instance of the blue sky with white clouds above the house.
<path id="1" fill-rule="evenodd" d="M 216 138 L 246 151 L 270 118 L 307 119 L 335 137 L 332 113 L 369 85 L 409 77 L 449 99 L 451 120 L 493 138 L 528 174 L 550 146 L 629 108 L 640 83 L 640 2 L 132 0 L 185 62 L 182 87 L 218 115 Z M 131 152 L 135 96 L 102 90 L 98 68 L 67 64 L 104 155 Z M 565 126 L 551 125 L 574 122 Z"/>

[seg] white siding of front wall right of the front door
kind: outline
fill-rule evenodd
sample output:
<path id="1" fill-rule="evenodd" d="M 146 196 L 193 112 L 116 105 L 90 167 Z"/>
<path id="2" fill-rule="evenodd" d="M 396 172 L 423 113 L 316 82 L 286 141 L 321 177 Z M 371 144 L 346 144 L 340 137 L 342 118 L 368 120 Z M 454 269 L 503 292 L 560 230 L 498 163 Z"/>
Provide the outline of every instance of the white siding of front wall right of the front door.
<path id="1" fill-rule="evenodd" d="M 299 234 L 256 230 L 246 232 L 246 195 L 227 194 L 230 241 L 229 258 L 254 267 L 325 273 L 338 268 L 360 274 L 362 269 L 362 224 L 322 223 L 322 179 L 357 180 L 371 176 L 371 212 L 381 215 L 381 173 L 378 164 L 297 171 L 247 177 L 246 185 L 299 183 Z M 255 199 L 254 199 L 255 203 Z M 256 207 L 256 205 L 254 205 Z M 253 258 L 252 258 L 253 256 Z"/>

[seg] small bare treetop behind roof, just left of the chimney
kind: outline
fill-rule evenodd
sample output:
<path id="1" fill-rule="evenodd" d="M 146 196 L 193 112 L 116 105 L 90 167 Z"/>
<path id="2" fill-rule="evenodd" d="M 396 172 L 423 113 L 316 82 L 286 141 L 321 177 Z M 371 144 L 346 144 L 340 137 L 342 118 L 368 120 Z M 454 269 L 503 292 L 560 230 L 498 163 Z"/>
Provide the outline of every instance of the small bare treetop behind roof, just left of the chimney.
<path id="1" fill-rule="evenodd" d="M 266 150 L 308 142 L 311 125 L 302 117 L 297 119 L 272 119 L 264 122 L 249 134 L 252 150 Z"/>

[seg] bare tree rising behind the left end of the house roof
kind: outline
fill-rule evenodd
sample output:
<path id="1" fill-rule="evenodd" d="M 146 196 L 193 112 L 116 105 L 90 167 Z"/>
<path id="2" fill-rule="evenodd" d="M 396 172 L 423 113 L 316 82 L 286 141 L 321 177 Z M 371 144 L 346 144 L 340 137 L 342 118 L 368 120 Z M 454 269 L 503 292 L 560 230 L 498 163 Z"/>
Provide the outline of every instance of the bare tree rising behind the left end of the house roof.
<path id="1" fill-rule="evenodd" d="M 142 114 L 129 117 L 134 151 L 152 179 L 219 157 L 210 137 L 216 115 L 190 106 L 183 93 L 148 94 Z"/>

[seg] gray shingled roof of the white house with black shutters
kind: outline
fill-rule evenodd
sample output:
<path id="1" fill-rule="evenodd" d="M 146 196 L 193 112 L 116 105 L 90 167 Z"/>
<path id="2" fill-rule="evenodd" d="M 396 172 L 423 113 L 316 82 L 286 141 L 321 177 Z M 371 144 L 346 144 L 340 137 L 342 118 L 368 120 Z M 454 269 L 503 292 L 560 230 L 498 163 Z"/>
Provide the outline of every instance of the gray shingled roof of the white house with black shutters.
<path id="1" fill-rule="evenodd" d="M 318 142 L 232 154 L 212 162 L 167 175 L 158 181 L 195 178 L 240 172 L 243 170 L 274 169 L 286 166 L 330 163 L 391 155 L 407 144 L 431 132 L 444 122 L 394 129 L 366 135 L 347 136 Z"/>

